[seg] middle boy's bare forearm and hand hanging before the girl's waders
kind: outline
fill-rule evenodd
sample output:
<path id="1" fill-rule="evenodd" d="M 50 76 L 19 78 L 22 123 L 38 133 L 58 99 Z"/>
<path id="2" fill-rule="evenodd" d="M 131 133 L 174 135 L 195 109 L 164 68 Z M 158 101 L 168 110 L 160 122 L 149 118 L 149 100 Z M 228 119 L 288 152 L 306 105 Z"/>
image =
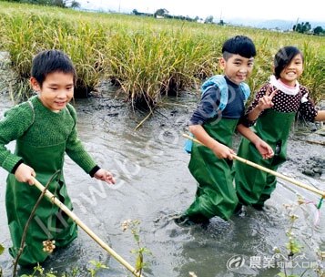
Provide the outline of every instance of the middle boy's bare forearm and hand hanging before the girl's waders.
<path id="1" fill-rule="evenodd" d="M 259 150 L 259 154 L 263 157 L 263 159 L 272 158 L 274 155 L 273 149 L 266 143 L 264 140 L 260 139 L 257 134 L 255 134 L 250 128 L 244 126 L 243 124 L 239 124 L 237 127 L 239 133 L 244 136 L 246 139 L 249 139 Z"/>

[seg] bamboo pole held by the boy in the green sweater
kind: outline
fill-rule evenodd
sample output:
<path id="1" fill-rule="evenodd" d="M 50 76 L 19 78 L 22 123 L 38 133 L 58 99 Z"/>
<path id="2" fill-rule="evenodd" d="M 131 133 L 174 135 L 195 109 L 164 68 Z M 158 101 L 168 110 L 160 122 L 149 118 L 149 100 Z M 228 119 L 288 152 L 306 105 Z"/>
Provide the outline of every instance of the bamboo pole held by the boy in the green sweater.
<path id="1" fill-rule="evenodd" d="M 45 187 L 34 178 L 34 184 L 36 185 L 38 190 L 41 190 L 42 192 L 45 191 Z M 105 243 L 104 241 L 102 241 L 93 231 L 91 231 L 86 224 L 83 221 L 80 221 L 80 219 L 76 216 L 76 214 L 74 212 L 72 212 L 71 210 L 69 210 L 66 205 L 64 203 L 62 203 L 60 200 L 58 200 L 56 198 L 56 196 L 50 192 L 49 190 L 45 191 L 45 195 L 46 198 L 48 200 L 50 200 L 51 202 L 55 203 L 57 207 L 59 207 L 61 210 L 65 211 L 66 214 L 73 220 L 76 222 L 76 224 L 83 229 L 84 231 L 86 231 L 86 233 L 94 240 L 96 241 L 104 250 L 106 250 L 110 255 L 112 255 L 117 262 L 121 263 L 122 265 L 124 265 L 128 271 L 130 271 L 133 275 L 137 276 L 137 277 L 142 277 L 141 274 L 139 274 L 137 272 L 137 270 L 130 265 L 127 261 L 125 261 L 120 255 L 117 254 L 116 251 L 114 251 L 113 249 L 111 249 L 107 243 Z"/>

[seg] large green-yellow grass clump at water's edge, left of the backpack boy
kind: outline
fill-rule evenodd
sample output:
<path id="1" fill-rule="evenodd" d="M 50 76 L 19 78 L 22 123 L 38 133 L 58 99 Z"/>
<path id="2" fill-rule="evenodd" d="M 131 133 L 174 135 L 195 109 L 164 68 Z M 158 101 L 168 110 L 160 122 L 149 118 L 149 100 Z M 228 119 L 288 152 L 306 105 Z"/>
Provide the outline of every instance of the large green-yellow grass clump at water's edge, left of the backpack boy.
<path id="1" fill-rule="evenodd" d="M 199 77 L 211 75 L 216 67 L 210 48 L 180 30 L 122 31 L 111 40 L 107 52 L 110 77 L 117 79 L 128 97 L 140 94 L 155 103 L 161 94 L 175 95 Z"/>

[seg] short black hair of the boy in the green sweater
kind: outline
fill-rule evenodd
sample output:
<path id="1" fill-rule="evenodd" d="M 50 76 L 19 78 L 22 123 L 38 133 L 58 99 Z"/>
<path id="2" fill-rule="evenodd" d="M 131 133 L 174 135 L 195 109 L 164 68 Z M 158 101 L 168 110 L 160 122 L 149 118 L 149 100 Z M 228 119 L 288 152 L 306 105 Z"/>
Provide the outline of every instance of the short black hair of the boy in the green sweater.
<path id="1" fill-rule="evenodd" d="M 76 85 L 76 68 L 71 59 L 60 50 L 45 50 L 38 53 L 32 62 L 31 76 L 42 87 L 46 76 L 53 72 L 72 74 Z"/>

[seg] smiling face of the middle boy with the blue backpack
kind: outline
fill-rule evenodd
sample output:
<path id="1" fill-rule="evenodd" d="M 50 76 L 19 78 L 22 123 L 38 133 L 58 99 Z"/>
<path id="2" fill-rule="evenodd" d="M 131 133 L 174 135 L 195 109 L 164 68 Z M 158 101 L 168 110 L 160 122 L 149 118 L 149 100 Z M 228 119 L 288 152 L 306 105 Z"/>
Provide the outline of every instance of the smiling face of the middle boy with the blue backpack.
<path id="1" fill-rule="evenodd" d="M 220 67 L 229 80 L 237 85 L 244 82 L 251 74 L 254 66 L 254 57 L 244 57 L 238 54 L 229 56 L 226 60 L 220 59 Z"/>

